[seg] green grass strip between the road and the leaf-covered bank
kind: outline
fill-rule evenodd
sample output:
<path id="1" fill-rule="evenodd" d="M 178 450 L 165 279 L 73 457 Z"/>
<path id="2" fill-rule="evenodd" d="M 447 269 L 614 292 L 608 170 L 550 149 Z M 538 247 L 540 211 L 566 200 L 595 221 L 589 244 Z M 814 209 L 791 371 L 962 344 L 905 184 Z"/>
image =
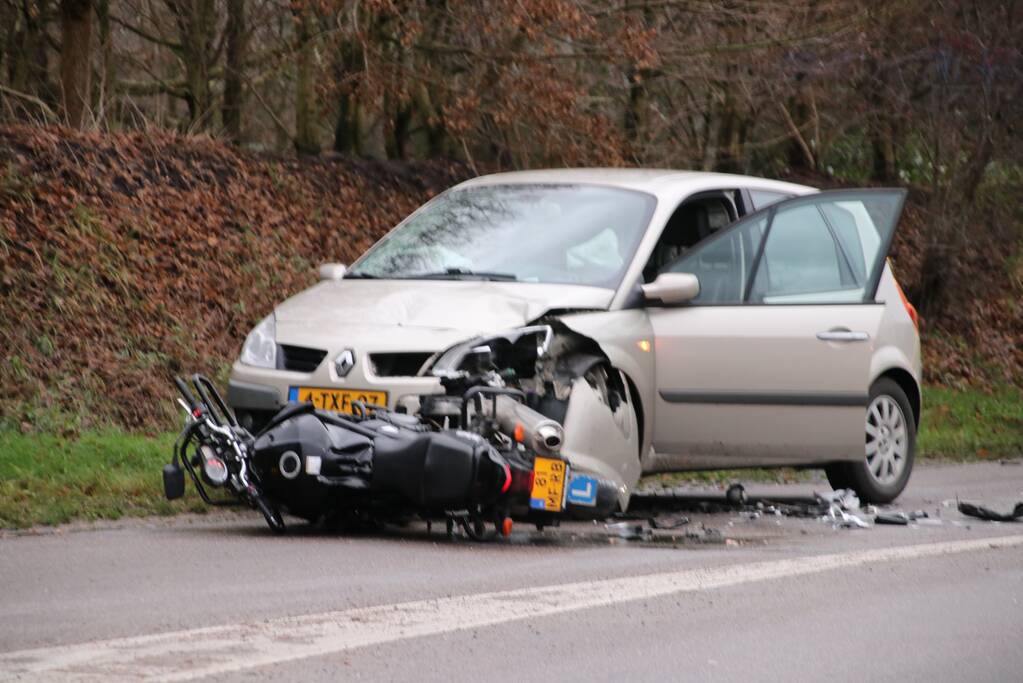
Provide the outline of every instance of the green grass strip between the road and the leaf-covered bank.
<path id="1" fill-rule="evenodd" d="M 990 394 L 928 388 L 919 439 L 923 458 L 955 460 L 1023 456 L 1023 391 Z M 0 529 L 73 519 L 175 514 L 206 508 L 191 486 L 184 499 L 164 498 L 161 468 L 175 435 L 116 429 L 75 439 L 0 429 Z M 815 471 L 719 470 L 648 477 L 664 486 L 726 486 L 731 482 L 807 483 Z"/>

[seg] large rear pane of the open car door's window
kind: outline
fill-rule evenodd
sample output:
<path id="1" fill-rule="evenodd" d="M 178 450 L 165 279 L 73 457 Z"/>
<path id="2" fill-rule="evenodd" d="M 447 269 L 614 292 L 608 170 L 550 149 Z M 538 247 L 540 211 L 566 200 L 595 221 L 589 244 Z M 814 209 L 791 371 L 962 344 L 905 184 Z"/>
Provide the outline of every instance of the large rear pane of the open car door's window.
<path id="1" fill-rule="evenodd" d="M 863 301 L 900 207 L 901 195 L 894 192 L 842 193 L 782 207 L 770 224 L 750 301 Z"/>

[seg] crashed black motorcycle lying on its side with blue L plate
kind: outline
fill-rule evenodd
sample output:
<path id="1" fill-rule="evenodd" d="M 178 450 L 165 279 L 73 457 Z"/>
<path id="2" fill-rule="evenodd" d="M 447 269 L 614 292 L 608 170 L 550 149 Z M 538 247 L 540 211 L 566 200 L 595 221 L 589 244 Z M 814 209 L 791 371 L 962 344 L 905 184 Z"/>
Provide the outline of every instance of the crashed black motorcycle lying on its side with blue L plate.
<path id="1" fill-rule="evenodd" d="M 475 540 L 507 536 L 515 521 L 542 529 L 605 518 L 618 507 L 618 487 L 573 471 L 555 410 L 542 393 L 517 388 L 536 375 L 551 337 L 540 325 L 448 350 L 431 370 L 444 393 L 417 397 L 414 413 L 295 403 L 257 434 L 208 378 L 175 377 L 186 417 L 164 467 L 165 494 L 184 495 L 187 472 L 205 502 L 248 505 L 278 533 L 285 513 L 311 522 L 444 521 Z"/>

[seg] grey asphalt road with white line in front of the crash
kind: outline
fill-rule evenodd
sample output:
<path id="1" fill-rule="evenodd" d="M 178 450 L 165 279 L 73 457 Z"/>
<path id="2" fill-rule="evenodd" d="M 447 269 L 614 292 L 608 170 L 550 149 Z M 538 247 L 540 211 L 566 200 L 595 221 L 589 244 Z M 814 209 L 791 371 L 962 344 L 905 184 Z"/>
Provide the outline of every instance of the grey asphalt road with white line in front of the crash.
<path id="1" fill-rule="evenodd" d="M 1023 525 L 957 495 L 1009 509 L 1023 466 L 919 467 L 899 507 L 926 525 L 691 515 L 711 543 L 278 538 L 255 513 L 7 534 L 0 680 L 1019 680 Z"/>

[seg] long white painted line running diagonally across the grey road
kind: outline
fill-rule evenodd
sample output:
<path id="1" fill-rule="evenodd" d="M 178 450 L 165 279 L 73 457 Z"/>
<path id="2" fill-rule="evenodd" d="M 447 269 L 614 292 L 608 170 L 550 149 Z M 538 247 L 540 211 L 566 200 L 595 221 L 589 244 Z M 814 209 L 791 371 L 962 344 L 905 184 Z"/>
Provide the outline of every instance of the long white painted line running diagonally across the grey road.
<path id="1" fill-rule="evenodd" d="M 1023 535 L 461 595 L 0 653 L 0 681 L 186 681 L 673 593 L 1023 545 Z"/>

